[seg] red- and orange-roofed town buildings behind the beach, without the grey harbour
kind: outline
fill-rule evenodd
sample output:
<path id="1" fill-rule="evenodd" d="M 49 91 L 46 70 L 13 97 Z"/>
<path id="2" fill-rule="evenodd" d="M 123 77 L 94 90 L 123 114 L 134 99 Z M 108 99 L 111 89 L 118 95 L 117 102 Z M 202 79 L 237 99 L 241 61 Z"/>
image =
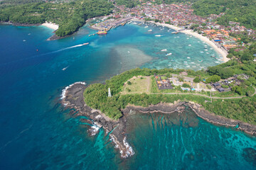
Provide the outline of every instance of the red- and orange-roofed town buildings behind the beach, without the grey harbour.
<path id="1" fill-rule="evenodd" d="M 198 25 L 196 30 L 198 33 L 206 35 L 217 45 L 225 50 L 236 47 L 237 50 L 244 50 L 244 43 L 241 38 L 233 38 L 230 33 L 240 34 L 246 33 L 256 40 L 256 31 L 240 26 L 240 23 L 230 21 L 229 26 L 220 26 L 215 22 L 224 13 L 219 15 L 212 14 L 208 17 L 196 16 L 193 14 L 191 4 L 160 4 L 154 5 L 150 2 L 143 3 L 141 6 L 134 8 L 126 8 L 125 6 L 116 6 L 114 16 L 135 16 L 138 19 L 151 19 L 163 23 L 169 23 L 182 28 L 191 28 Z"/>

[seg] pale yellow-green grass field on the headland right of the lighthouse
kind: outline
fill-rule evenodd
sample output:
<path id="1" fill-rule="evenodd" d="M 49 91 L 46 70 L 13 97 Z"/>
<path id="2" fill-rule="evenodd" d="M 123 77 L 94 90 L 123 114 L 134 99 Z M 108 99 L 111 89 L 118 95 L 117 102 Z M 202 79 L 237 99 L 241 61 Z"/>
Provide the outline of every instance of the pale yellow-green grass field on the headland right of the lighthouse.
<path id="1" fill-rule="evenodd" d="M 128 81 L 132 84 L 128 84 Z M 132 77 L 124 84 L 124 89 L 121 94 L 142 94 L 150 93 L 151 77 Z"/>

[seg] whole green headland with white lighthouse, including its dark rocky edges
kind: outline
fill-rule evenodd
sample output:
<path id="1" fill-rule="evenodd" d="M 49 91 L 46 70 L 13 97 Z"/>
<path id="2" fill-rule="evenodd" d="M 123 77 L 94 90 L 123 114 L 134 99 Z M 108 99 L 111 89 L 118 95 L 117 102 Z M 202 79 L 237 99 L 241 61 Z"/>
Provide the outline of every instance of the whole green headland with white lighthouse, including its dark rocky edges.
<path id="1" fill-rule="evenodd" d="M 255 62 L 237 59 L 207 71 L 132 69 L 105 84 L 68 86 L 63 104 L 75 108 L 74 116 L 88 118 L 82 121 L 92 125 L 90 135 L 103 128 L 121 157 L 134 154 L 126 135 L 127 118 L 134 111 L 171 114 L 189 107 L 210 123 L 256 136 L 255 78 L 250 70 L 238 69 L 252 65 Z M 238 70 L 240 74 L 235 74 Z"/>

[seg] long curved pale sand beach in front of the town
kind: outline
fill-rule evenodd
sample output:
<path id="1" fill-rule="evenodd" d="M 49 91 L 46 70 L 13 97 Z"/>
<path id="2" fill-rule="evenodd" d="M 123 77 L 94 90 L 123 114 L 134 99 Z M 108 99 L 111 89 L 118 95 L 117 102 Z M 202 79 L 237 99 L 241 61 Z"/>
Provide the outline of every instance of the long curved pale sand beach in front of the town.
<path id="1" fill-rule="evenodd" d="M 136 19 L 136 18 L 132 19 L 132 21 L 145 22 L 144 20 L 139 20 L 139 19 Z M 149 21 L 149 23 L 154 23 L 154 24 L 156 24 L 156 26 L 165 26 L 165 27 L 171 28 L 173 30 L 183 29 L 183 28 L 180 28 L 180 27 L 177 27 L 177 26 L 169 25 L 167 23 L 155 23 L 154 21 Z M 207 37 L 204 37 L 203 35 L 200 35 L 196 32 L 193 32 L 193 30 L 182 30 L 181 33 L 192 35 L 192 36 L 202 40 L 203 42 L 206 42 L 208 45 L 213 47 L 214 50 L 217 51 L 223 57 L 222 58 L 223 62 L 228 62 L 228 60 L 230 60 L 229 58 L 227 58 L 228 52 L 226 50 L 224 50 L 223 47 L 220 47 L 220 45 L 218 45 L 215 42 L 209 40 Z"/>

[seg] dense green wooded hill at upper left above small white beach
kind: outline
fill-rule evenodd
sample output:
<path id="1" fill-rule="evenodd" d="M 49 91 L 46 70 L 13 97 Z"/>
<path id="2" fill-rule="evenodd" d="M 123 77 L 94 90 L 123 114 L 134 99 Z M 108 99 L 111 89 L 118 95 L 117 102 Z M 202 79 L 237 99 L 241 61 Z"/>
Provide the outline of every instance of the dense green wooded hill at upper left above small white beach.
<path id="1" fill-rule="evenodd" d="M 112 4 L 107 0 L 78 0 L 64 4 L 30 3 L 10 6 L 0 10 L 0 21 L 12 23 L 57 23 L 60 27 L 56 35 L 75 33 L 85 24 L 87 18 L 105 16 L 112 12 Z"/>

